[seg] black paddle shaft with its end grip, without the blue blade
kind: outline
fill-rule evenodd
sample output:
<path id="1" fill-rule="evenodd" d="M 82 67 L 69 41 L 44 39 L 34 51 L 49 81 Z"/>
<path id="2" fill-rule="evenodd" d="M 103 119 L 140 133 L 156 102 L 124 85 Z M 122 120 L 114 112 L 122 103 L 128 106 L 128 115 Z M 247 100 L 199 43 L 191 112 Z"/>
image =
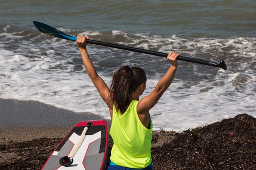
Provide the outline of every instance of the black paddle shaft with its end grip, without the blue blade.
<path id="1" fill-rule="evenodd" d="M 150 55 L 153 55 L 153 56 L 159 56 L 159 57 L 167 57 L 168 56 L 167 53 L 156 52 L 156 51 L 140 49 L 140 48 L 134 48 L 134 47 L 125 46 L 125 45 L 112 44 L 112 43 L 109 43 L 109 42 L 102 42 L 102 41 L 96 41 L 96 40 L 90 40 L 90 39 L 86 39 L 86 42 L 89 43 L 89 44 L 109 46 L 109 47 L 112 47 L 112 48 L 129 50 L 129 51 L 132 51 L 132 52 L 138 52 L 138 53 L 143 53 L 143 54 L 150 54 Z M 203 65 L 208 65 L 208 66 L 213 66 L 213 67 L 220 67 L 224 70 L 227 69 L 226 64 L 223 60 L 221 60 L 220 63 L 217 64 L 215 62 L 206 61 L 206 60 L 203 60 L 203 59 L 196 59 L 196 58 L 183 57 L 183 56 L 179 56 L 179 57 L 177 57 L 177 59 L 182 60 L 182 61 L 193 62 L 193 63 L 200 63 L 200 64 L 203 64 Z"/>

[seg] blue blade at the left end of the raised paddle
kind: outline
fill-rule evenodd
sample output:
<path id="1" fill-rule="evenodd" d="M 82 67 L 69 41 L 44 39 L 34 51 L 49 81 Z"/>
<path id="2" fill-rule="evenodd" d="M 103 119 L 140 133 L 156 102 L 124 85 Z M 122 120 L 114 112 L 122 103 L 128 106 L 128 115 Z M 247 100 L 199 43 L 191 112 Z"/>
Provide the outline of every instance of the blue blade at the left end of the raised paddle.
<path id="1" fill-rule="evenodd" d="M 60 31 L 59 29 L 54 28 L 50 25 L 47 25 L 47 24 L 44 24 L 41 22 L 37 22 L 37 21 L 34 21 L 33 23 L 35 24 L 36 28 L 38 28 L 38 30 L 40 32 L 43 32 L 47 35 L 50 35 L 53 37 L 58 37 L 60 39 L 76 41 L 76 36 L 68 35 L 67 33 L 64 33 L 62 31 Z"/>

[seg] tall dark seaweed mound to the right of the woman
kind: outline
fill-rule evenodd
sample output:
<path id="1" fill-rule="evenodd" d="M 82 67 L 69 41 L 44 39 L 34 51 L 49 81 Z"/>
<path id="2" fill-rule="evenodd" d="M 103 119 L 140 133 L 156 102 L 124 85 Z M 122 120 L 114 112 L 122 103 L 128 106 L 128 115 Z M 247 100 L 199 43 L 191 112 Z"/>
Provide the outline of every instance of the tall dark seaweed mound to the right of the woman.
<path id="1" fill-rule="evenodd" d="M 255 118 L 240 114 L 152 148 L 155 169 L 256 169 Z"/>

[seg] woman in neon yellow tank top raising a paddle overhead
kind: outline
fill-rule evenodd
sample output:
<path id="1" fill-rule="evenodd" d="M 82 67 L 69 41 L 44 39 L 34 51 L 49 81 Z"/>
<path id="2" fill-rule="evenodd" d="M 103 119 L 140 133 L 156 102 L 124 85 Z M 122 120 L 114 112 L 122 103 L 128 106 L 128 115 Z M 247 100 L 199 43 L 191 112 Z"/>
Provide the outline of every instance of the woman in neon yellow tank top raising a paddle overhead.
<path id="1" fill-rule="evenodd" d="M 77 46 L 94 86 L 108 105 L 113 138 L 108 169 L 153 169 L 151 163 L 152 121 L 150 109 L 158 102 L 174 79 L 179 54 L 172 52 L 167 59 L 171 66 L 150 95 L 139 100 L 146 88 L 146 74 L 139 67 L 122 66 L 112 79 L 110 88 L 98 76 L 86 50 L 86 36 L 77 36 Z"/>

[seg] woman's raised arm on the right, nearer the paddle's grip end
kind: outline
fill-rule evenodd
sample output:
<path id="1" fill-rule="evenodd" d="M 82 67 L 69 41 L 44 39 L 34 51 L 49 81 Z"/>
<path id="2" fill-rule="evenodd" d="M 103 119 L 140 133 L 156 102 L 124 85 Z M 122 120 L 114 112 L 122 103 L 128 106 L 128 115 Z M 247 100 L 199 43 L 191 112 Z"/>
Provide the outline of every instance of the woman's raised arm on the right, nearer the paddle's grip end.
<path id="1" fill-rule="evenodd" d="M 137 112 L 139 114 L 148 114 L 149 110 L 152 107 L 154 107 L 156 103 L 158 103 L 158 100 L 160 99 L 160 97 L 171 85 L 172 80 L 174 80 L 174 76 L 178 67 L 178 63 L 176 61 L 178 56 L 179 54 L 175 52 L 168 54 L 167 59 L 171 62 L 171 66 L 168 69 L 167 73 L 163 76 L 163 78 L 159 80 L 154 91 L 152 91 L 150 95 L 145 96 L 141 100 L 139 100 L 139 103 L 137 106 Z"/>

